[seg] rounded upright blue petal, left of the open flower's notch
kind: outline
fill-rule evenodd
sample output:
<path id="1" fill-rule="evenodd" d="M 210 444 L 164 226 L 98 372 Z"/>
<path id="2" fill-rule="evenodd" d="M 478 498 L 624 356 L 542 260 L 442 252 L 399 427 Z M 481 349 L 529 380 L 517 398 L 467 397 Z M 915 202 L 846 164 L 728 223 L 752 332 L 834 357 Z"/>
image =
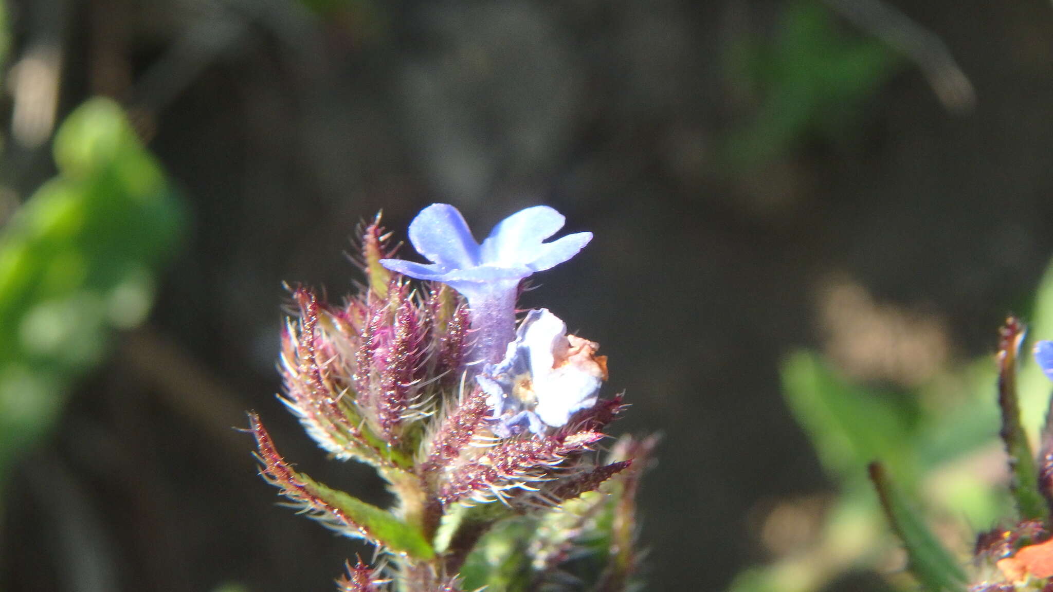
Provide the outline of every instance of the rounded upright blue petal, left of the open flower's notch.
<path id="1" fill-rule="evenodd" d="M 448 268 L 471 268 L 479 262 L 479 245 L 472 231 L 460 212 L 449 203 L 433 203 L 421 210 L 410 222 L 410 242 L 429 260 Z"/>

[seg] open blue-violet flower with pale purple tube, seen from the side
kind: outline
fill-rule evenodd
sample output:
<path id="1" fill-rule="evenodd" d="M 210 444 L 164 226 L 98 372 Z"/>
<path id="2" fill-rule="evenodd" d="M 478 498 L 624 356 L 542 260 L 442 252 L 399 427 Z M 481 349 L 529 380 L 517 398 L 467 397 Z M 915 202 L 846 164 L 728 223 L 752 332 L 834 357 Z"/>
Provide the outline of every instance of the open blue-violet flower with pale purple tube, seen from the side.
<path id="1" fill-rule="evenodd" d="M 501 220 L 479 244 L 456 208 L 433 203 L 410 223 L 410 242 L 432 263 L 381 259 L 380 264 L 460 292 L 471 309 L 476 358 L 493 362 L 515 337 L 519 282 L 574 257 L 592 240 L 592 233 L 575 233 L 543 242 L 563 222 L 559 212 L 535 205 Z"/>

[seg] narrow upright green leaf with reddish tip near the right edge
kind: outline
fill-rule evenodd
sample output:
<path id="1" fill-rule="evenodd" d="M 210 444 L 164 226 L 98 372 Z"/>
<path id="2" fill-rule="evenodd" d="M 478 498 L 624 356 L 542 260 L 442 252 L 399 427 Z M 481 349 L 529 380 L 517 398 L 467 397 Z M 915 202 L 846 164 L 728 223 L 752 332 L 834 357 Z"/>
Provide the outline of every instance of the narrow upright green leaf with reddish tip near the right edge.
<path id="1" fill-rule="evenodd" d="M 1038 491 L 1038 471 L 1031 442 L 1020 418 L 1020 401 L 1016 395 L 1016 359 L 1024 341 L 1025 328 L 1010 317 L 999 331 L 998 339 L 998 407 L 1001 409 L 1001 439 L 1009 454 L 1013 473 L 1011 486 L 1021 518 L 1045 518 L 1046 500 Z"/>

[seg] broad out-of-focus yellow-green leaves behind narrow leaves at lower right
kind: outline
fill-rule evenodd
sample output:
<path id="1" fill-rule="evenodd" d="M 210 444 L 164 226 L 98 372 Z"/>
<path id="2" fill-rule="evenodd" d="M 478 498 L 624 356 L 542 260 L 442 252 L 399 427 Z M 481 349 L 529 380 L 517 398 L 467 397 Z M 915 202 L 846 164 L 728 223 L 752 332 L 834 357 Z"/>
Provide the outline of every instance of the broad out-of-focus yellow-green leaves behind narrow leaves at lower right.
<path id="1" fill-rule="evenodd" d="M 838 495 L 813 545 L 743 572 L 731 590 L 815 592 L 855 570 L 880 571 L 889 560 L 890 540 L 881 533 L 886 520 L 870 484 L 855 478 L 873 459 L 889 459 L 890 471 L 912 495 L 923 492 L 934 515 L 959 518 L 952 521 L 960 530 L 941 522 L 949 545 L 968 541 L 974 534 L 969 526 L 1006 520 L 1011 515 L 1006 484 L 984 469 L 1005 458 L 997 438 L 996 378 L 995 360 L 984 356 L 937 374 L 909 397 L 882 396 L 839 377 L 818 354 L 791 356 L 782 368 L 784 396 L 823 467 L 839 481 Z M 1045 392 L 1048 380 L 1040 373 L 1038 378 Z M 1021 388 L 1021 399 L 1027 390 Z"/>

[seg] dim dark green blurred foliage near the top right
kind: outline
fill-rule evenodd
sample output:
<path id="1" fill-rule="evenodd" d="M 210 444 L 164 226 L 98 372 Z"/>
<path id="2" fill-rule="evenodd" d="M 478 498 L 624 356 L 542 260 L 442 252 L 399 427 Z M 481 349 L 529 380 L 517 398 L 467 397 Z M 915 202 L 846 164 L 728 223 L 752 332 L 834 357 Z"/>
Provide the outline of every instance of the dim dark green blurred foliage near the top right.
<path id="1" fill-rule="evenodd" d="M 817 0 L 787 4 L 774 39 L 743 35 L 734 43 L 733 83 L 759 102 L 729 139 L 727 158 L 736 170 L 753 170 L 808 137 L 852 134 L 900 63 L 888 45 L 847 29 Z"/>

